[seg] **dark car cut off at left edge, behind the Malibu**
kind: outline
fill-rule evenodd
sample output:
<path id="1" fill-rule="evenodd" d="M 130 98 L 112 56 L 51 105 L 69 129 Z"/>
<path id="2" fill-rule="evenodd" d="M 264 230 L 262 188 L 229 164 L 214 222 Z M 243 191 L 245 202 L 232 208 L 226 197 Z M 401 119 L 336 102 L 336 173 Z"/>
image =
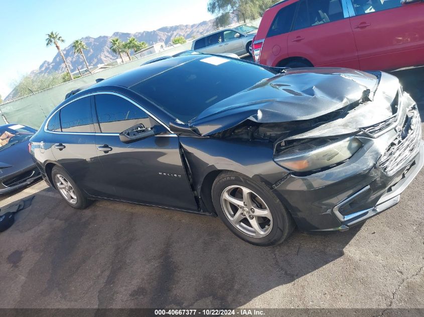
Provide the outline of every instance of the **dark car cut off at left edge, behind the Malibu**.
<path id="1" fill-rule="evenodd" d="M 36 130 L 20 124 L 0 126 L 0 194 L 41 179 L 28 142 Z"/>

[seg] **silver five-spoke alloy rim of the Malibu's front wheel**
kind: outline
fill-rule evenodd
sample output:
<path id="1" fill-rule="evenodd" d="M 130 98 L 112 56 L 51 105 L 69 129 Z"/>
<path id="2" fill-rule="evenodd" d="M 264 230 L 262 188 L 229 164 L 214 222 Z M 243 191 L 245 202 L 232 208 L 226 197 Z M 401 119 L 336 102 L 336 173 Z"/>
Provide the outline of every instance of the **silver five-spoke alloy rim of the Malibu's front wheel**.
<path id="1" fill-rule="evenodd" d="M 252 237 L 264 237 L 272 229 L 272 215 L 262 198 L 243 186 L 229 186 L 221 194 L 225 216 L 238 230 Z"/>

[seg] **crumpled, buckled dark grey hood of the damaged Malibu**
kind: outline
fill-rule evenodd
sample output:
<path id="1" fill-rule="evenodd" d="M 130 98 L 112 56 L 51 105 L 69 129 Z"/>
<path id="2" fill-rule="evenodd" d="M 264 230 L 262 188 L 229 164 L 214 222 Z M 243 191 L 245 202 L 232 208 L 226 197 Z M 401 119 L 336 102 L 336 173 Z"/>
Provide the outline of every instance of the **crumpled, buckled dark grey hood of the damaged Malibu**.
<path id="1" fill-rule="evenodd" d="M 373 109 L 378 118 L 361 118 L 351 130 L 374 124 L 391 115 L 390 102 L 397 92 L 396 88 L 393 91 L 393 87 L 398 86 L 398 81 L 384 73 L 380 84 L 382 80 L 390 82 L 390 87 L 379 93 L 379 103 L 375 103 L 377 108 L 382 108 Z M 366 96 L 368 100 L 374 100 L 378 86 L 376 76 L 351 69 L 289 69 L 284 74 L 216 103 L 189 124 L 201 135 L 207 136 L 245 120 L 258 123 L 309 120 L 339 110 Z"/>

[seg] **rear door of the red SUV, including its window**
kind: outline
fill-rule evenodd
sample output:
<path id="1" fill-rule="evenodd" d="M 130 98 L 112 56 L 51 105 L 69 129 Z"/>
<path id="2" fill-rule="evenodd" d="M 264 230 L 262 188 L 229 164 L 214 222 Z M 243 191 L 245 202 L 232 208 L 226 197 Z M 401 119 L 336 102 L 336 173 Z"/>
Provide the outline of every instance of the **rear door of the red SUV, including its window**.
<path id="1" fill-rule="evenodd" d="M 289 57 L 304 57 L 314 66 L 359 67 L 343 0 L 301 0 L 288 48 Z"/>

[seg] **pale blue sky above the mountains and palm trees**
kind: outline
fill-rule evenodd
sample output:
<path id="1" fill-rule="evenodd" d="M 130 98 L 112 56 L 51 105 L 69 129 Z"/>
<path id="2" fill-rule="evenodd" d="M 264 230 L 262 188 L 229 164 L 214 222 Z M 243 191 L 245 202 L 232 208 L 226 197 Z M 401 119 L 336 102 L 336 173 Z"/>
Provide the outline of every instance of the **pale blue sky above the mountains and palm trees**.
<path id="1" fill-rule="evenodd" d="M 0 0 L 0 95 L 4 99 L 22 76 L 57 54 L 46 34 L 58 32 L 63 48 L 86 36 L 135 33 L 194 24 L 213 17 L 207 0 Z"/>

